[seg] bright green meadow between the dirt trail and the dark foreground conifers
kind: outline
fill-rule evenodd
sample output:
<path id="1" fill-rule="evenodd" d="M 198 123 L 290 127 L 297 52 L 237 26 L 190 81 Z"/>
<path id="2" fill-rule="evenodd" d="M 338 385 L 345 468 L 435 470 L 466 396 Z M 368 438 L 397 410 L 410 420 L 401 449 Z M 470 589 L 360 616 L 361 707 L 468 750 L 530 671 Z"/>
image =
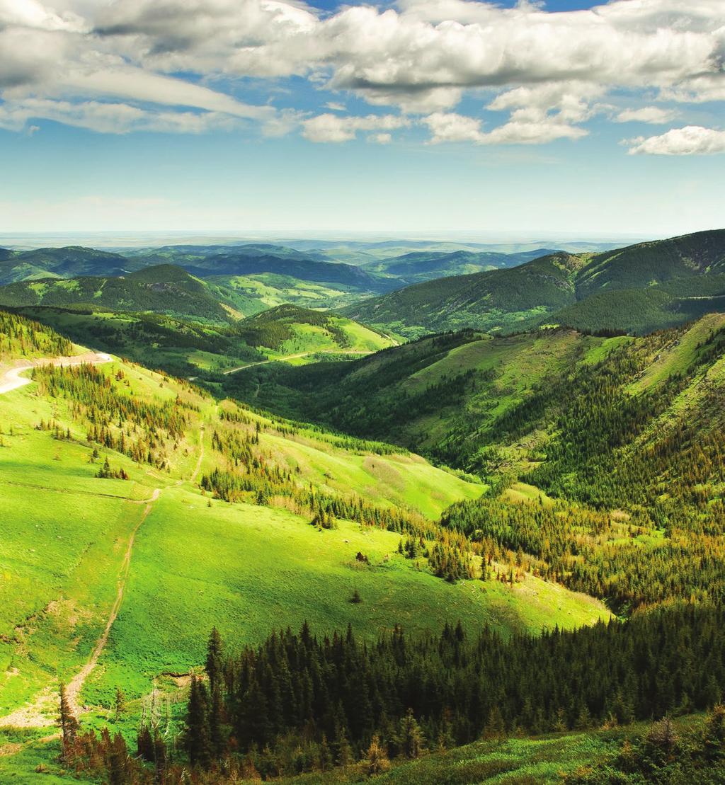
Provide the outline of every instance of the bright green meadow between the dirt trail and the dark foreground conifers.
<path id="1" fill-rule="evenodd" d="M 507 634 L 608 617 L 590 597 L 533 577 L 513 589 L 451 586 L 398 555 L 398 540 L 344 521 L 319 531 L 284 510 L 210 507 L 181 487 L 163 491 L 139 531 L 126 601 L 87 698 L 110 705 L 115 685 L 139 696 L 156 674 L 188 672 L 202 661 L 212 624 L 239 646 L 305 619 L 318 633 L 351 623 L 374 638 L 396 623 L 438 631 L 461 619 L 469 630 L 488 623 Z M 355 560 L 358 551 L 370 566 Z M 355 589 L 360 604 L 350 602 Z"/>

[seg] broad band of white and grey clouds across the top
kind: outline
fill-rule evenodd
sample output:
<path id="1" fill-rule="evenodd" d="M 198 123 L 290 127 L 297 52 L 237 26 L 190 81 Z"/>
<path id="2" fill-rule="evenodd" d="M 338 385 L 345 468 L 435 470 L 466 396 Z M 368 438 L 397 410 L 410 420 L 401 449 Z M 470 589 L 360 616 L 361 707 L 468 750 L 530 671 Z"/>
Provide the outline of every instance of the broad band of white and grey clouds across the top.
<path id="1" fill-rule="evenodd" d="M 179 132 L 253 123 L 263 133 L 299 128 L 312 141 L 349 141 L 419 115 L 436 143 L 576 139 L 595 115 L 611 116 L 613 89 L 681 104 L 725 100 L 722 9 L 722 0 L 611 0 L 560 13 L 538 2 L 502 8 L 473 0 L 343 5 L 334 13 L 302 0 L 0 0 L 0 97 L 12 122 L 31 119 L 29 101 L 46 100 L 36 111 L 97 130 L 106 124 L 91 116 L 130 118 L 135 109 L 145 119 L 121 127 L 172 127 L 170 115 L 178 115 Z M 291 77 L 323 91 L 320 106 L 331 111 L 344 111 L 338 97 L 353 93 L 400 114 L 309 117 L 306 106 L 280 110 L 240 98 L 250 78 L 266 80 L 271 96 L 274 83 Z M 507 118 L 489 130 L 485 115 L 457 114 L 467 96 Z M 294 90 L 286 100 L 295 101 Z M 399 125 L 364 125 L 381 116 Z M 650 106 L 613 119 L 675 116 Z"/>

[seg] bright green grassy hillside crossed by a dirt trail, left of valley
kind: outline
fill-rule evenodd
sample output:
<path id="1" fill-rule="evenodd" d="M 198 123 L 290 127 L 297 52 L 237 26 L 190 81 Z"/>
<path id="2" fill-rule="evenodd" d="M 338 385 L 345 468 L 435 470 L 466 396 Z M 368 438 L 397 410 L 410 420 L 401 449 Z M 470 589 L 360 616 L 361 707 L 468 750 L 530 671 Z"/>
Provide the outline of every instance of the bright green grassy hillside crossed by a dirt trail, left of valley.
<path id="1" fill-rule="evenodd" d="M 416 455 L 216 403 L 134 363 L 38 369 L 35 380 L 0 398 L 0 705 L 20 710 L 13 722 L 52 712 L 57 678 L 91 656 L 119 586 L 79 694 L 91 707 L 108 707 L 116 686 L 140 699 L 156 675 L 198 664 L 210 619 L 252 642 L 302 619 L 374 636 L 401 620 L 425 630 L 455 616 L 510 634 L 606 616 L 534 575 L 449 583 L 398 554 L 401 535 L 386 527 L 438 536 L 430 521 L 484 490 Z M 357 509 L 358 497 L 367 524 L 309 524 L 317 506 Z"/>

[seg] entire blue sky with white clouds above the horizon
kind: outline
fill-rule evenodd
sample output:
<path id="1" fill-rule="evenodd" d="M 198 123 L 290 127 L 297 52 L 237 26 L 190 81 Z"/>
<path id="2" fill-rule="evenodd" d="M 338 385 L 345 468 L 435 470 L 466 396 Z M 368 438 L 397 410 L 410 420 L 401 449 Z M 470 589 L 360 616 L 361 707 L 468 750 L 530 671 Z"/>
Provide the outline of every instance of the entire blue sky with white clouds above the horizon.
<path id="1" fill-rule="evenodd" d="M 0 232 L 725 226 L 725 0 L 0 0 Z"/>

